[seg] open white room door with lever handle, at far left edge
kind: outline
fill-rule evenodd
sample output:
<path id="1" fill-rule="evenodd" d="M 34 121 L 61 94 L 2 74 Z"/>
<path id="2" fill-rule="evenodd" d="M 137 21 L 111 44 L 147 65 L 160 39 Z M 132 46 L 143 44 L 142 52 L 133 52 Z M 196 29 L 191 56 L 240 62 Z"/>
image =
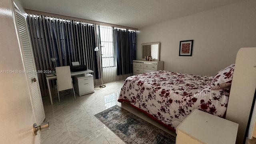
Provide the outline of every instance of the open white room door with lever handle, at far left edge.
<path id="1" fill-rule="evenodd" d="M 40 144 L 18 36 L 12 0 L 0 0 L 0 143 Z"/>

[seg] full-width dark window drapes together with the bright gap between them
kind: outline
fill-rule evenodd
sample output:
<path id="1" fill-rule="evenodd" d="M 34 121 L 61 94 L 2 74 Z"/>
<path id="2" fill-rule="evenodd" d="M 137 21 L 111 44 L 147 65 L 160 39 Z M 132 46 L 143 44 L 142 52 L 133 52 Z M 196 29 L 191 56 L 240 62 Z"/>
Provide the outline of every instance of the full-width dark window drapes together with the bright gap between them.
<path id="1" fill-rule="evenodd" d="M 50 59 L 57 58 L 54 66 L 78 61 L 94 71 L 94 79 L 104 75 L 104 82 L 132 73 L 136 31 L 38 14 L 28 14 L 27 18 L 37 70 L 50 70 Z M 94 51 L 96 47 L 100 52 Z M 47 95 L 45 74 L 39 73 L 38 77 L 42 95 Z"/>

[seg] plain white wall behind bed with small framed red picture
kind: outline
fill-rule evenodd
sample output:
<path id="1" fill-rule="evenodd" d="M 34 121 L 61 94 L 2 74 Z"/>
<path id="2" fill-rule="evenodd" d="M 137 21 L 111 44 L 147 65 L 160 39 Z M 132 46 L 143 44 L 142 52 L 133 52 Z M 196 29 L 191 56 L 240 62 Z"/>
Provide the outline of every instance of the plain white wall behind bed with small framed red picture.
<path id="1" fill-rule="evenodd" d="M 192 56 L 178 56 L 182 40 L 194 40 Z M 213 76 L 235 62 L 239 48 L 256 46 L 256 0 L 144 27 L 138 31 L 137 59 L 148 42 L 160 42 L 164 70 Z"/>

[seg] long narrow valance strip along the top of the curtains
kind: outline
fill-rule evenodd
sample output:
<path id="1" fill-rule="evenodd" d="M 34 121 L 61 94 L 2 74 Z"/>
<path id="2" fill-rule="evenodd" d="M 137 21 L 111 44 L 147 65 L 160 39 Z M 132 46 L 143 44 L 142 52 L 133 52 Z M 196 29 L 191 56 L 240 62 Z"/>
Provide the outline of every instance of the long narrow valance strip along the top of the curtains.
<path id="1" fill-rule="evenodd" d="M 114 27 L 118 27 L 118 28 L 129 29 L 129 30 L 138 30 L 138 28 L 130 28 L 130 27 L 127 27 L 127 26 L 119 26 L 119 25 L 116 25 L 116 24 L 109 24 L 109 23 L 105 23 L 105 22 L 97 22 L 97 21 L 94 21 L 94 20 L 86 20 L 86 19 L 82 19 L 82 18 L 75 18 L 75 17 L 72 17 L 72 16 L 64 16 L 64 15 L 52 14 L 52 13 L 48 13 L 48 12 L 40 12 L 40 11 L 36 11 L 36 10 L 25 9 L 25 12 L 29 13 L 29 14 L 38 14 L 38 15 L 44 15 L 44 16 L 51 16 L 51 17 L 68 19 L 68 20 L 76 20 L 76 21 L 80 21 L 80 22 L 88 22 L 88 23 L 92 23 L 92 24 L 114 26 Z"/>

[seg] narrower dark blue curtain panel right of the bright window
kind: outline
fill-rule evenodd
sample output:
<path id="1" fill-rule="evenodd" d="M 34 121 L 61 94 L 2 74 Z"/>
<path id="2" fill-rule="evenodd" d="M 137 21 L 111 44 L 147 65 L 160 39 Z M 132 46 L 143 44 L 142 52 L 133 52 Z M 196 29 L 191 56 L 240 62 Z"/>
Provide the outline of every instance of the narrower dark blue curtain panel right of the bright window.
<path id="1" fill-rule="evenodd" d="M 132 62 L 136 59 L 136 31 L 113 30 L 116 48 L 117 75 L 132 73 Z"/>

